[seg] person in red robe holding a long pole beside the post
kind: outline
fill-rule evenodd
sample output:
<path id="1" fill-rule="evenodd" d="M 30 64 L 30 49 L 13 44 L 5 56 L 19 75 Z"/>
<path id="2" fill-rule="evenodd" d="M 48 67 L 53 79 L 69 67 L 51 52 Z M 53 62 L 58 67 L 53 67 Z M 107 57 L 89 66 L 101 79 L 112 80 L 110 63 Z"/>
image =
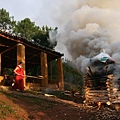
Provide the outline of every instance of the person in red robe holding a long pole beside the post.
<path id="1" fill-rule="evenodd" d="M 23 63 L 20 62 L 14 69 L 14 73 L 16 77 L 15 77 L 15 83 L 13 86 L 14 90 L 19 89 L 21 92 L 24 91 L 24 69 L 22 67 L 22 64 Z"/>

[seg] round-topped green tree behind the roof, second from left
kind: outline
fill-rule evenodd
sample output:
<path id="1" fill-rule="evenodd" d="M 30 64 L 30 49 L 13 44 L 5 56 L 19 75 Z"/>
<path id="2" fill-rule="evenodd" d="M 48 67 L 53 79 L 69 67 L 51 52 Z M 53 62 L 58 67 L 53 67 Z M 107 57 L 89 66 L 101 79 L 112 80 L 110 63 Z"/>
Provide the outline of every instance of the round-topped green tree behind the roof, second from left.
<path id="1" fill-rule="evenodd" d="M 14 33 L 19 35 L 27 40 L 32 40 L 34 35 L 39 31 L 39 27 L 35 25 L 34 22 L 31 22 L 29 18 L 25 18 L 24 20 L 18 21 L 17 25 L 14 29 Z"/>

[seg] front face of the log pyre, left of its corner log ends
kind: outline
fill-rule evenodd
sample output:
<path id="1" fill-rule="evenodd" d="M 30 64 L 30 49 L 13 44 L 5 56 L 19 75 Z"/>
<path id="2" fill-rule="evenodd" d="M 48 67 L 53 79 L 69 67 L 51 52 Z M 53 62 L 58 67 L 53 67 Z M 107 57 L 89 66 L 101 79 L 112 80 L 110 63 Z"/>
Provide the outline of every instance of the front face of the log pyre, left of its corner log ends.
<path id="1" fill-rule="evenodd" d="M 87 103 L 106 103 L 109 101 L 106 87 L 107 76 L 85 78 L 84 90 Z"/>

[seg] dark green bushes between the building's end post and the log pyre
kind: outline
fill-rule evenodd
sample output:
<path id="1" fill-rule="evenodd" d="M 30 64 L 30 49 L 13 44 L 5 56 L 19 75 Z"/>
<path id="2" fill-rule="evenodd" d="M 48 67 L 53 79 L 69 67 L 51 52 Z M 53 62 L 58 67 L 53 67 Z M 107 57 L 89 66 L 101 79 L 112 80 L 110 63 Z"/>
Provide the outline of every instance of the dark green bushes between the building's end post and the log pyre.
<path id="1" fill-rule="evenodd" d="M 63 70 L 65 89 L 82 92 L 83 78 L 82 75 L 78 72 L 75 65 L 71 61 L 66 60 L 65 62 L 63 62 Z"/>

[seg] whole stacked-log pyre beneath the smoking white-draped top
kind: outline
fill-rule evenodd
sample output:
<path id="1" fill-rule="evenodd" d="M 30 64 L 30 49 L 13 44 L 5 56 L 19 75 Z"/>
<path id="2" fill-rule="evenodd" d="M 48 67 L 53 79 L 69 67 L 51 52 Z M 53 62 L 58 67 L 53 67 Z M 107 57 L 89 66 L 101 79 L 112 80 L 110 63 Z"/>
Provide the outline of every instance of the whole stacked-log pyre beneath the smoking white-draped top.
<path id="1" fill-rule="evenodd" d="M 91 67 L 86 68 L 84 76 L 85 103 L 106 103 L 108 105 L 120 103 L 120 79 L 111 71 L 101 69 L 93 72 Z"/>

